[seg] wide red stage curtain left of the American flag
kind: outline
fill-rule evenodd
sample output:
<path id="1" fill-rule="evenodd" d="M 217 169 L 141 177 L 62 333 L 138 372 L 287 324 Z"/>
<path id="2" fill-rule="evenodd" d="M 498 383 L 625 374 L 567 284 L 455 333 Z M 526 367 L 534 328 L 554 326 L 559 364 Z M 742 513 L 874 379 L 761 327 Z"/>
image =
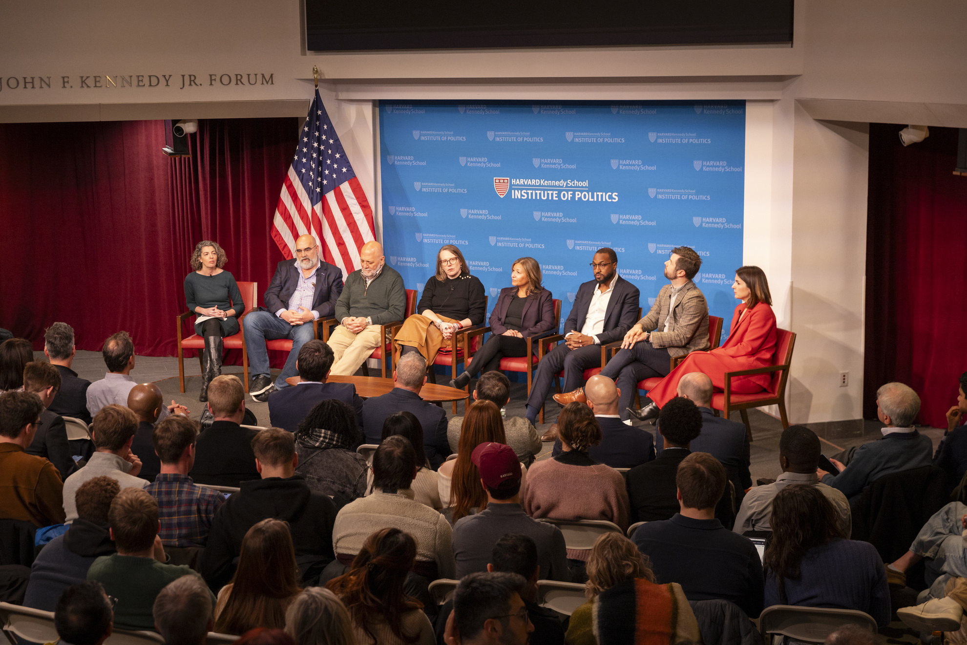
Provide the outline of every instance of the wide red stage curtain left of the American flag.
<path id="1" fill-rule="evenodd" d="M 78 349 L 118 330 L 173 356 L 174 317 L 202 239 L 259 300 L 284 259 L 269 236 L 299 119 L 199 121 L 190 158 L 161 153 L 162 121 L 0 125 L 0 327 L 43 348 L 64 321 Z M 261 305 L 261 302 L 258 303 Z"/>

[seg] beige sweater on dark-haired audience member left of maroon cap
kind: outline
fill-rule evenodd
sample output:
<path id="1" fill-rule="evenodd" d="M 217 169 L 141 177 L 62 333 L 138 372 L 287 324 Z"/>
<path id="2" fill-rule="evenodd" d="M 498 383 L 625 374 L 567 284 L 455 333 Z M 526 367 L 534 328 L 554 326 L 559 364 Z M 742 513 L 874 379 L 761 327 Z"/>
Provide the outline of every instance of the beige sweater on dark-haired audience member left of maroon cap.
<path id="1" fill-rule="evenodd" d="M 417 560 L 435 562 L 440 577 L 456 575 L 450 523 L 440 513 L 414 500 L 412 490 L 393 494 L 376 490 L 342 507 L 333 525 L 333 549 L 337 554 L 355 555 L 363 548 L 366 538 L 387 527 L 413 536 L 417 542 Z"/>

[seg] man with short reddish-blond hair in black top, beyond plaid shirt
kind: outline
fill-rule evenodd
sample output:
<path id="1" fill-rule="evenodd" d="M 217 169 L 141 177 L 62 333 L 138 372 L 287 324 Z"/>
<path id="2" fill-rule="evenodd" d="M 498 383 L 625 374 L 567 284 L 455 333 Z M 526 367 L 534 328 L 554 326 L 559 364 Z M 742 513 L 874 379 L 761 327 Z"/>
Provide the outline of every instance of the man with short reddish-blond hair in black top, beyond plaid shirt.
<path id="1" fill-rule="evenodd" d="M 258 430 L 239 425 L 245 419 L 245 388 L 238 376 L 222 374 L 212 379 L 208 409 L 215 421 L 198 437 L 191 479 L 198 484 L 235 487 L 257 480 L 251 440 Z"/>

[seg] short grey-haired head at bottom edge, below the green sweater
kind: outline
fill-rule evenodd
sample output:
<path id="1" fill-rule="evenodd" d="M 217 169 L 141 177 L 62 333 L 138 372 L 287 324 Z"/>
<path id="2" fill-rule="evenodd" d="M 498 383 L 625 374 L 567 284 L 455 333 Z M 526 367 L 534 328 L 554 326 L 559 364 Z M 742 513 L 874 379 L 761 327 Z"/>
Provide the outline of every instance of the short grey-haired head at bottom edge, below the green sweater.
<path id="1" fill-rule="evenodd" d="M 205 645 L 212 620 L 211 592 L 195 575 L 183 575 L 161 590 L 152 614 L 165 643 Z"/>

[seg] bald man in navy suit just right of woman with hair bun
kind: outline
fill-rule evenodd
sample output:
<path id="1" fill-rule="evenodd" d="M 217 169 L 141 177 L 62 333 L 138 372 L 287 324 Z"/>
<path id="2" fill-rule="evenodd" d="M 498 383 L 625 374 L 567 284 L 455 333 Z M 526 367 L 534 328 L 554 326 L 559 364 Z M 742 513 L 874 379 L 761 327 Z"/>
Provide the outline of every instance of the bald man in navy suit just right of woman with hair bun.
<path id="1" fill-rule="evenodd" d="M 614 381 L 601 374 L 592 376 L 584 386 L 584 394 L 587 406 L 594 412 L 595 420 L 601 427 L 601 443 L 588 450 L 592 459 L 612 468 L 633 468 L 655 458 L 652 433 L 622 423 L 618 415 L 621 393 L 614 386 Z M 554 441 L 551 454 L 561 454 L 560 438 Z"/>

